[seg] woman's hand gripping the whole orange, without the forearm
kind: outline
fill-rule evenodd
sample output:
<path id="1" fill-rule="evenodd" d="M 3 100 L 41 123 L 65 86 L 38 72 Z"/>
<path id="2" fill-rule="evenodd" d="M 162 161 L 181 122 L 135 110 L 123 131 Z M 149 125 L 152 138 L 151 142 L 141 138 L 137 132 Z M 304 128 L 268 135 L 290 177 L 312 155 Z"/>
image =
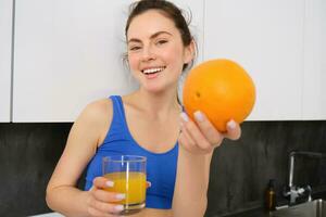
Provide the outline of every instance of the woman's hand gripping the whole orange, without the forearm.
<path id="1" fill-rule="evenodd" d="M 227 123 L 227 131 L 222 133 L 215 129 L 212 123 L 201 112 L 193 114 L 195 124 L 186 113 L 181 113 L 181 132 L 179 143 L 191 153 L 211 153 L 220 146 L 224 138 L 237 140 L 241 136 L 241 128 L 235 120 Z"/>

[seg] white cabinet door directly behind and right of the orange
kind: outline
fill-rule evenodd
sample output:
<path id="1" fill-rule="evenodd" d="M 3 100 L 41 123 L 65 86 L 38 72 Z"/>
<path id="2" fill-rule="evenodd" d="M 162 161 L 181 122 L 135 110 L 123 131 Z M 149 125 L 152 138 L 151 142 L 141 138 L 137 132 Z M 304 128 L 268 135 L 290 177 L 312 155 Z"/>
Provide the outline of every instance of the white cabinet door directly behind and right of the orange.
<path id="1" fill-rule="evenodd" d="M 204 59 L 231 59 L 252 76 L 249 119 L 300 119 L 304 0 L 206 0 Z"/>

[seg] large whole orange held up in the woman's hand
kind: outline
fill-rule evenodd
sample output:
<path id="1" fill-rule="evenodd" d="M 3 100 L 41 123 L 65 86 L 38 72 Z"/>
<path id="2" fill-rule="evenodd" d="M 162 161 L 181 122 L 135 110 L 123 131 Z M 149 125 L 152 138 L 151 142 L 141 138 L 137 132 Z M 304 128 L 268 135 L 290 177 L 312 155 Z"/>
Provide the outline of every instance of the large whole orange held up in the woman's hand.
<path id="1" fill-rule="evenodd" d="M 226 131 L 226 123 L 242 123 L 255 102 L 251 77 L 230 60 L 211 60 L 189 72 L 184 85 L 183 102 L 193 119 L 196 111 L 203 112 L 214 127 Z"/>

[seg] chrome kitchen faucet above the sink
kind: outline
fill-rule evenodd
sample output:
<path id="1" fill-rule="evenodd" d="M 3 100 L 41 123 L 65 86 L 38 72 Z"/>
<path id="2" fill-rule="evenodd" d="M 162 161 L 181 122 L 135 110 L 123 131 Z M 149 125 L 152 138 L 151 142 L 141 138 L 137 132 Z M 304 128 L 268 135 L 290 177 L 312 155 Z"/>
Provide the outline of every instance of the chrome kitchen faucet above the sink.
<path id="1" fill-rule="evenodd" d="M 291 152 L 289 155 L 289 190 L 284 192 L 285 196 L 290 196 L 290 204 L 294 204 L 297 199 L 300 195 L 308 194 L 308 200 L 311 201 L 311 192 L 312 189 L 310 186 L 306 186 L 305 188 L 298 188 L 293 184 L 293 174 L 294 174 L 294 156 L 296 155 L 303 155 L 303 156 L 310 156 L 310 157 L 326 157 L 326 154 L 319 153 L 319 152 Z"/>

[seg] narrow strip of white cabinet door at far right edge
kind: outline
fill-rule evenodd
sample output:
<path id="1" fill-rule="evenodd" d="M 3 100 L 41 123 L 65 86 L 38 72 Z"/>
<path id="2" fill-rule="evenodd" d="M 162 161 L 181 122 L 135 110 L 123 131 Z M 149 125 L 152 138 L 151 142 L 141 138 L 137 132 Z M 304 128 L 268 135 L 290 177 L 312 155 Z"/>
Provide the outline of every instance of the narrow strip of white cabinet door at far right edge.
<path id="1" fill-rule="evenodd" d="M 326 2 L 308 0 L 304 24 L 303 119 L 326 119 Z"/>

